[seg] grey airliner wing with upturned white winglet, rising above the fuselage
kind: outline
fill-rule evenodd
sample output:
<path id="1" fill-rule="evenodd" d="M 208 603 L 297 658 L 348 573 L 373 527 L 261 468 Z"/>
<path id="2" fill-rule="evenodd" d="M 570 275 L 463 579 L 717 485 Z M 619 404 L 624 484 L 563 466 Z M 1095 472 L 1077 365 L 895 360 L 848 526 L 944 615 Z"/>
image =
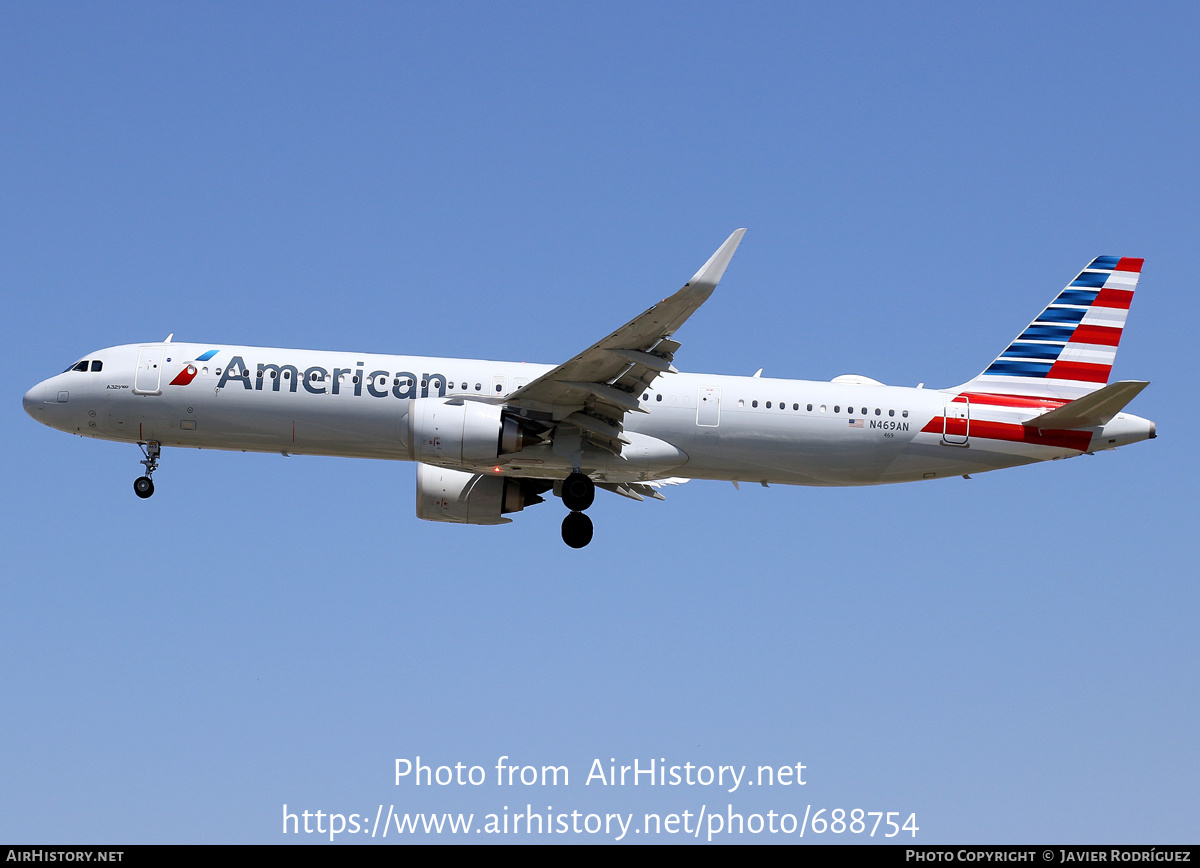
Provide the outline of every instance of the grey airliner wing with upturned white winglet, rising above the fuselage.
<path id="1" fill-rule="evenodd" d="M 508 403 L 580 429 L 584 439 L 620 454 L 625 413 L 644 413 L 638 397 L 671 365 L 679 348 L 676 329 L 708 300 L 721 281 L 745 229 L 730 235 L 674 295 L 634 317 L 570 361 L 523 385 Z"/>

